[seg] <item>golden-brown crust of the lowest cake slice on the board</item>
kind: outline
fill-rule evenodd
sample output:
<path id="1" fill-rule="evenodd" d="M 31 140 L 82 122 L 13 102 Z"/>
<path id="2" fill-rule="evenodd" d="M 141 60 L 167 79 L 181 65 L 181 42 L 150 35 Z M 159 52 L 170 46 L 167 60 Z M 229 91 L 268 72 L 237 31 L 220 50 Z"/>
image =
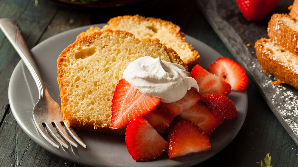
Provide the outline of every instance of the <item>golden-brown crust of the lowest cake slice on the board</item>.
<path id="1" fill-rule="evenodd" d="M 270 39 L 261 38 L 257 40 L 254 48 L 256 49 L 257 59 L 262 69 L 267 74 L 273 74 L 275 78 L 298 89 L 298 75 L 288 67 L 285 67 L 278 59 L 274 59 L 272 53 L 264 49 L 264 44 L 271 42 Z"/>

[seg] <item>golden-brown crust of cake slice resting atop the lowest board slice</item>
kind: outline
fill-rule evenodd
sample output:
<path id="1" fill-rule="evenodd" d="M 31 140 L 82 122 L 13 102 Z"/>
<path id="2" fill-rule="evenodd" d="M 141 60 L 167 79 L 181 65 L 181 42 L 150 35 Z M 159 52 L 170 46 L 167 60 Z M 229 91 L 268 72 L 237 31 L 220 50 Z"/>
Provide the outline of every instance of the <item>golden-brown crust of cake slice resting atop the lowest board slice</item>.
<path id="1" fill-rule="evenodd" d="M 282 17 L 289 17 L 287 14 L 274 14 L 268 23 L 268 37 L 286 50 L 298 55 L 297 40 L 298 33 L 285 25 L 280 20 Z"/>

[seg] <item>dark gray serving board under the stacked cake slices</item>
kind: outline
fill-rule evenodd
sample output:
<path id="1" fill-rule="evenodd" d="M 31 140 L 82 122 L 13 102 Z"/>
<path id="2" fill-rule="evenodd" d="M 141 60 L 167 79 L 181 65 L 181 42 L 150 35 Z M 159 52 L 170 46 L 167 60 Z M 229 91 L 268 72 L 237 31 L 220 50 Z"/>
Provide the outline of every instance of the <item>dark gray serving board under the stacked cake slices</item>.
<path id="1" fill-rule="evenodd" d="M 257 61 L 254 43 L 267 36 L 273 13 L 288 13 L 293 0 L 282 0 L 265 18 L 251 22 L 240 12 L 236 0 L 197 0 L 202 13 L 226 47 L 259 88 L 272 112 L 298 145 L 298 90 L 286 84 L 272 85 L 274 76 L 266 75 Z M 247 46 L 250 44 L 250 46 Z M 262 112 L 262 111 L 260 111 Z"/>

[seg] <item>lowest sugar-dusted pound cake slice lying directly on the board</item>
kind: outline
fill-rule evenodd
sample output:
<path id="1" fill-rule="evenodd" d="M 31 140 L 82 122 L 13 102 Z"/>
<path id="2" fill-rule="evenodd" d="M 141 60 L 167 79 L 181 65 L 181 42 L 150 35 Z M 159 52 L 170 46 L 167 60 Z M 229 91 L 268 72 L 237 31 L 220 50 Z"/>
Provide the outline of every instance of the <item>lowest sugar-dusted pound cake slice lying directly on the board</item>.
<path id="1" fill-rule="evenodd" d="M 257 40 L 254 48 L 265 73 L 273 74 L 275 78 L 298 89 L 297 55 L 266 38 Z"/>

